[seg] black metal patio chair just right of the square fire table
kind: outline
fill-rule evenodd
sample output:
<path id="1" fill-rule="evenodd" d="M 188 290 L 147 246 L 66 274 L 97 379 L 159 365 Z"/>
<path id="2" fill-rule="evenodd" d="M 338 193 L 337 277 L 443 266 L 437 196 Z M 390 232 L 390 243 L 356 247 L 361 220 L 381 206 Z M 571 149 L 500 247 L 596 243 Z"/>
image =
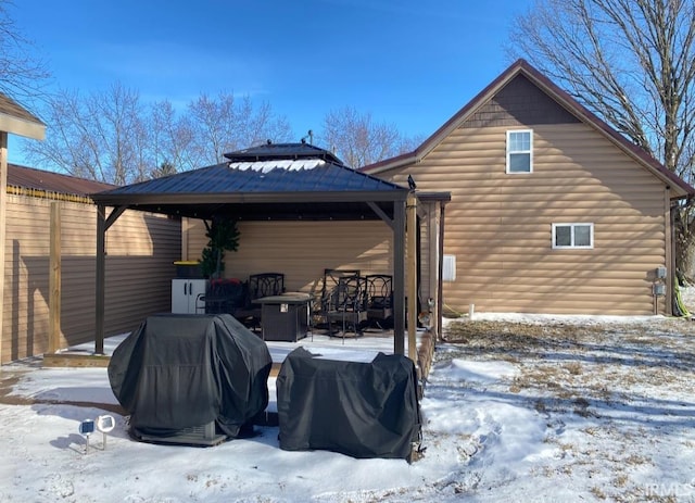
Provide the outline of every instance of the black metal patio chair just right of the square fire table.
<path id="1" fill-rule="evenodd" d="M 333 324 L 339 324 L 343 343 L 349 328 L 355 337 L 362 336 L 364 323 L 367 320 L 367 289 L 365 278 L 358 275 L 344 276 L 338 279 L 338 285 L 328 297 L 326 319 L 328 334 L 334 334 Z"/>

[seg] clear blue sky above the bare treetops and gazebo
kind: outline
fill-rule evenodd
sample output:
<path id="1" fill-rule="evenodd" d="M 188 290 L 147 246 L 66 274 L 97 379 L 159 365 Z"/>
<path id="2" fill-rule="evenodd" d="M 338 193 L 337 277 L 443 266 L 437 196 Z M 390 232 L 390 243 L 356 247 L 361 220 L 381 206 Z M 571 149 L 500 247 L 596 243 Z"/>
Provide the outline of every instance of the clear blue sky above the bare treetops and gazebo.
<path id="1" fill-rule="evenodd" d="M 10 10 L 56 87 L 115 81 L 144 101 L 250 96 L 298 140 L 354 106 L 429 136 L 503 72 L 532 0 L 18 0 Z M 10 144 L 11 162 L 20 152 Z M 13 159 L 14 158 L 14 159 Z"/>

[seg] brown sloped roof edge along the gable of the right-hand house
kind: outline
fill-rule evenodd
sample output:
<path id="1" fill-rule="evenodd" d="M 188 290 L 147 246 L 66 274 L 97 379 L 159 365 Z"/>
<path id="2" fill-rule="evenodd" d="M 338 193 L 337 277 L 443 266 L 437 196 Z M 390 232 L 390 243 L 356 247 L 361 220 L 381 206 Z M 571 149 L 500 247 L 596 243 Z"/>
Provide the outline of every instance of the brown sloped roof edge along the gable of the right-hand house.
<path id="1" fill-rule="evenodd" d="M 412 152 L 396 155 L 384 161 L 380 161 L 362 167 L 363 173 L 378 174 L 395 167 L 420 162 L 428 153 L 430 153 L 440 142 L 448 137 L 453 130 L 458 128 L 466 122 L 480 106 L 486 103 L 502 88 L 509 84 L 517 75 L 523 75 L 543 92 L 555 100 L 560 106 L 566 109 L 572 115 L 582 122 L 593 126 L 598 133 L 606 137 L 609 141 L 624 151 L 630 158 L 650 171 L 655 176 L 667 184 L 671 193 L 675 199 L 695 194 L 695 188 L 681 179 L 673 172 L 669 171 L 664 164 L 655 160 L 640 147 L 630 142 L 624 136 L 609 126 L 605 121 L 591 112 L 566 91 L 560 89 L 556 84 L 541 74 L 536 68 L 529 64 L 526 60 L 517 60 L 507 70 L 505 70 L 497 78 L 495 78 L 488 87 L 480 91 L 472 100 L 470 100 L 454 116 L 446 121 L 433 135 L 427 138 L 417 149 Z"/>

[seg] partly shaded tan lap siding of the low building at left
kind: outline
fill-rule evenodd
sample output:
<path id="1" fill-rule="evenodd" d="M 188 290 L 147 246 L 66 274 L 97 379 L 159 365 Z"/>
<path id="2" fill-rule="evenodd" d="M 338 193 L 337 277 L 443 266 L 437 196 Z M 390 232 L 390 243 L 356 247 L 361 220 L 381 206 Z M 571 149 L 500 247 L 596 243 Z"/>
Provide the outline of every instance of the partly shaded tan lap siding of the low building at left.
<path id="1" fill-rule="evenodd" d="M 61 202 L 64 343 L 93 341 L 97 211 Z M 48 344 L 51 201 L 8 196 L 2 363 L 41 354 Z M 173 262 L 180 254 L 180 223 L 126 212 L 106 232 L 105 332 L 136 328 L 169 311 Z"/>

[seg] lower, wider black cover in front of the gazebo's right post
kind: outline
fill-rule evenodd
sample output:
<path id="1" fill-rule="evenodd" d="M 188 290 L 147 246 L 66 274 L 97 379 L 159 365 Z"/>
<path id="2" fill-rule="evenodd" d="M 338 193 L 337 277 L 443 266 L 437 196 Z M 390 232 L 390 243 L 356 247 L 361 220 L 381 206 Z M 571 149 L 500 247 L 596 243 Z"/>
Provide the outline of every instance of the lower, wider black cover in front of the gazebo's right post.
<path id="1" fill-rule="evenodd" d="M 414 363 L 383 353 L 370 363 L 317 356 L 298 348 L 282 363 L 280 448 L 408 458 L 421 426 Z"/>

